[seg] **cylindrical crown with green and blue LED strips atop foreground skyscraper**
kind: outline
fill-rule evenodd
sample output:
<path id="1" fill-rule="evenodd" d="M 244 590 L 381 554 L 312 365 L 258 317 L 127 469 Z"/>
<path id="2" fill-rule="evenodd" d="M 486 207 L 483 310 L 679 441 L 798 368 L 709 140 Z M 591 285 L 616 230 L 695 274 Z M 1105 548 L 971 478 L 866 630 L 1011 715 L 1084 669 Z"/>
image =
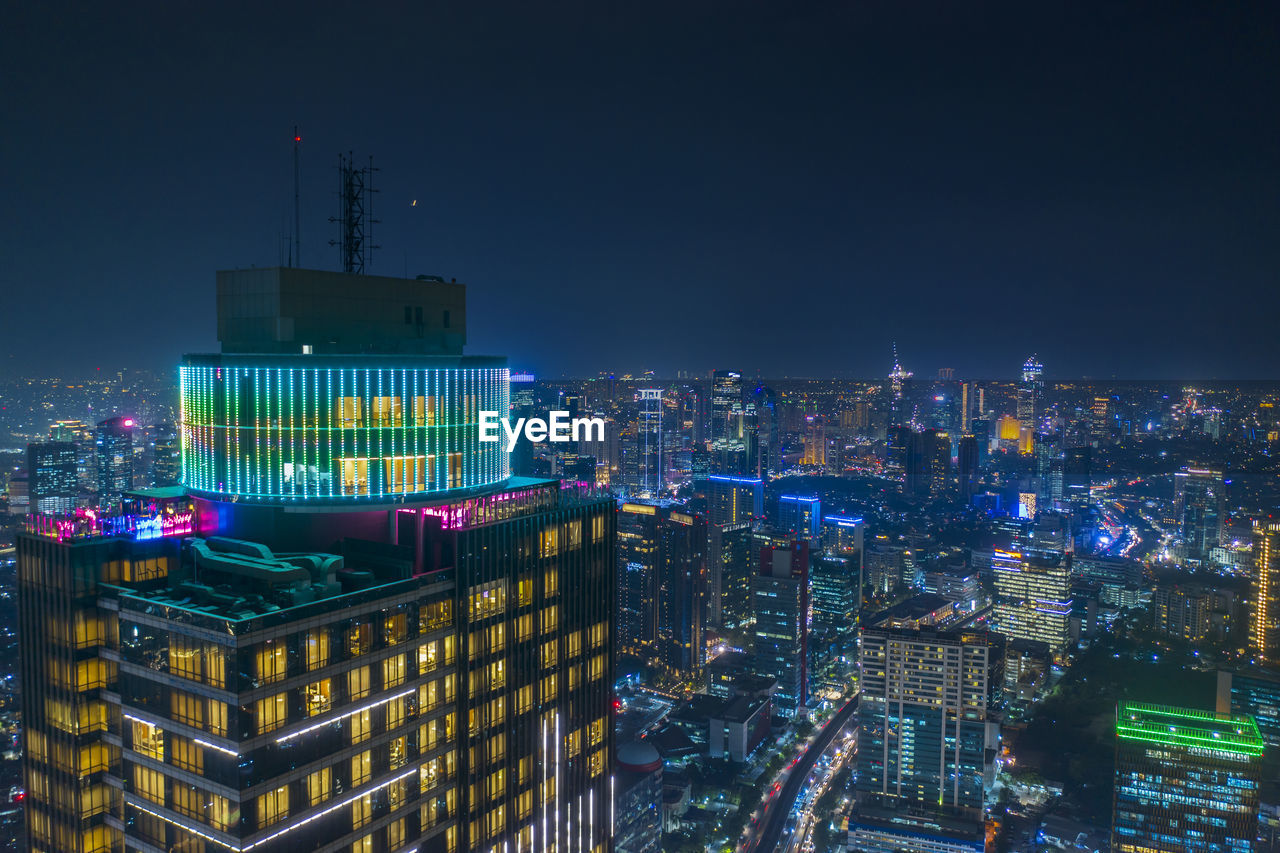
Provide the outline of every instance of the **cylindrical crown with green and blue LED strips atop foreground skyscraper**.
<path id="1" fill-rule="evenodd" d="M 480 442 L 479 419 L 509 410 L 508 370 L 497 359 L 443 361 L 188 356 L 183 485 L 229 500 L 385 503 L 502 483 L 506 447 Z"/>

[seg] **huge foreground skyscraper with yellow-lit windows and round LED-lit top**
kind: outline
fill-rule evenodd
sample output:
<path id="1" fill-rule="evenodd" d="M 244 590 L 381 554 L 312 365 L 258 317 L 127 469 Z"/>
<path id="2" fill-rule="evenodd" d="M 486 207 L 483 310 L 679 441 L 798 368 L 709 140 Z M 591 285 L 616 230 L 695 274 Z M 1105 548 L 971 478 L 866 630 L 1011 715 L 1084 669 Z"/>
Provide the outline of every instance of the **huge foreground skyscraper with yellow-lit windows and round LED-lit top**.
<path id="1" fill-rule="evenodd" d="M 219 274 L 186 494 L 19 537 L 32 849 L 608 844 L 614 505 L 479 442 L 463 297 Z"/>

